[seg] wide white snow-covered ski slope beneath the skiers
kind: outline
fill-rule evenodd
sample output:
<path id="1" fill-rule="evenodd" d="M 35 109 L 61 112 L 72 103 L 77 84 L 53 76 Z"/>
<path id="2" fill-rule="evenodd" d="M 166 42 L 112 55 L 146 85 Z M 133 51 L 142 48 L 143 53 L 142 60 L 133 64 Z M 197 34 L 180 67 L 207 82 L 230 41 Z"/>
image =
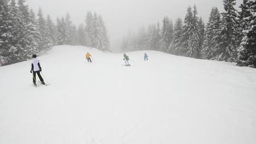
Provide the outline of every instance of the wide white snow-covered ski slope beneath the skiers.
<path id="1" fill-rule="evenodd" d="M 256 69 L 144 52 L 124 67 L 121 53 L 56 46 L 38 88 L 30 61 L 0 67 L 0 143 L 256 143 Z"/>

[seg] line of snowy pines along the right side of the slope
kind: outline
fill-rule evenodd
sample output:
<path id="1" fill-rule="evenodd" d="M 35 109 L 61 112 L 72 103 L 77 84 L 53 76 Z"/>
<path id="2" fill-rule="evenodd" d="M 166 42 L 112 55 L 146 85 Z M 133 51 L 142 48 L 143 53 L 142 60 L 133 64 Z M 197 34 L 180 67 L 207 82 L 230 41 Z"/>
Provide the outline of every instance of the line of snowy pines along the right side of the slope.
<path id="1" fill-rule="evenodd" d="M 224 0 L 224 12 L 213 7 L 208 22 L 198 16 L 196 5 L 188 7 L 184 22 L 174 25 L 167 16 L 162 24 L 149 25 L 147 32 L 139 28 L 123 38 L 123 51 L 156 50 L 173 55 L 215 61 L 252 64 L 256 56 L 256 1 L 243 0 L 241 11 L 235 0 Z"/>

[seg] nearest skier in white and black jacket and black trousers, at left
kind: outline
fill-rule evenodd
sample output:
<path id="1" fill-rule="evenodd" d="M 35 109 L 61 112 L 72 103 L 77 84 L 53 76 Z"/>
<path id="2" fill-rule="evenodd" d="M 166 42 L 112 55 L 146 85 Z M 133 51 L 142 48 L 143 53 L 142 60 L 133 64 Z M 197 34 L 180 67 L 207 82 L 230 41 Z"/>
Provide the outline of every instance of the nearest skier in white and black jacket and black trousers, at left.
<path id="1" fill-rule="evenodd" d="M 34 76 L 33 77 L 33 83 L 34 83 L 34 85 L 36 85 L 36 74 L 39 77 L 39 79 L 42 82 L 42 84 L 45 85 L 44 79 L 40 75 L 40 71 L 42 71 L 42 68 L 41 68 L 40 63 L 39 63 L 39 61 L 37 59 L 37 55 L 33 55 L 30 73 L 33 72 L 33 76 Z"/>

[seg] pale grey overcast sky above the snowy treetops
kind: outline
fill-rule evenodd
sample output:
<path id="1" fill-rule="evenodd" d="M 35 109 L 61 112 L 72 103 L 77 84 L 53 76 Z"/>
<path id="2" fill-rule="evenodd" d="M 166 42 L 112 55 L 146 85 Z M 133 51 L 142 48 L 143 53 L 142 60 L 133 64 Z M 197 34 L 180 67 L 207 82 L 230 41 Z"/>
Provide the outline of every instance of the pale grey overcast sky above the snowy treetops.
<path id="1" fill-rule="evenodd" d="M 237 7 L 241 3 L 242 0 L 237 0 Z M 161 22 L 165 15 L 173 22 L 178 17 L 184 19 L 189 5 L 196 4 L 205 23 L 212 7 L 223 11 L 223 0 L 27 0 L 27 4 L 36 13 L 41 7 L 44 14 L 50 14 L 54 20 L 68 12 L 77 26 L 84 23 L 86 11 L 96 11 L 106 23 L 112 48 L 117 48 L 128 29 L 136 31 L 143 25 Z"/>

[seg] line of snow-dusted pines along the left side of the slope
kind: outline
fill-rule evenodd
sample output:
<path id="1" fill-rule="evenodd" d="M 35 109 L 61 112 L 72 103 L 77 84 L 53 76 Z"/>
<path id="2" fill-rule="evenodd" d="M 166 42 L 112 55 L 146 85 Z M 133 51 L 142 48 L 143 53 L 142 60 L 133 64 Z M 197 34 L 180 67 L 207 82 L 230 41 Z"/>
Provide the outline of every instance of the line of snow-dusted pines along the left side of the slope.
<path id="1" fill-rule="evenodd" d="M 50 50 L 54 45 L 84 45 L 109 51 L 106 26 L 101 15 L 88 11 L 84 24 L 77 28 L 69 13 L 44 17 L 37 15 L 25 0 L 0 1 L 0 66 L 31 59 L 33 54 Z"/>

